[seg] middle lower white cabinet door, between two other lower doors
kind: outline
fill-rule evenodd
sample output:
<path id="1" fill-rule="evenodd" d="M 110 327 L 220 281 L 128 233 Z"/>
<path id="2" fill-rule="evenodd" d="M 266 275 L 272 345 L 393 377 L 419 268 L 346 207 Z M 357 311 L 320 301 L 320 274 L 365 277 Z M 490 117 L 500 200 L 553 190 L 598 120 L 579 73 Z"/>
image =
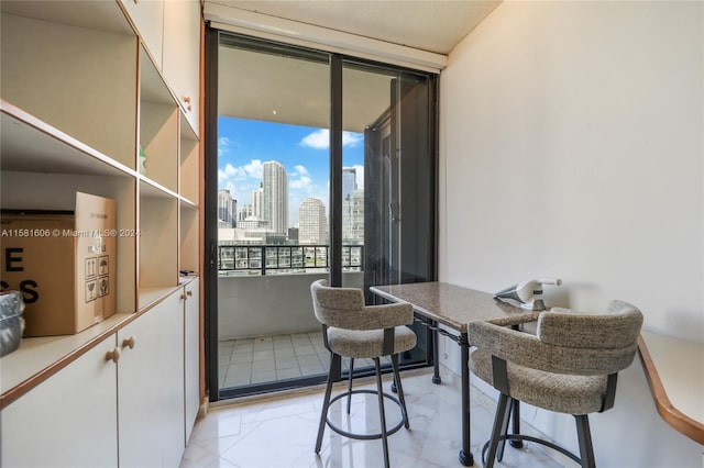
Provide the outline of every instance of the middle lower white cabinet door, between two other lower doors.
<path id="1" fill-rule="evenodd" d="M 118 332 L 121 467 L 180 463 L 185 448 L 180 296 L 177 290 Z"/>

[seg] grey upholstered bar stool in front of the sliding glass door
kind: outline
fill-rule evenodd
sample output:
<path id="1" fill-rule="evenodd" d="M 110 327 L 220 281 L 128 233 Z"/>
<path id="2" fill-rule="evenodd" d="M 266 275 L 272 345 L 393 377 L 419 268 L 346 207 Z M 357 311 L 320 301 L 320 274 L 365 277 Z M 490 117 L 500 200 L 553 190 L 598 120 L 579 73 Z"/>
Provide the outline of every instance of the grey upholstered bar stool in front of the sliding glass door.
<path id="1" fill-rule="evenodd" d="M 414 321 L 413 307 L 407 303 L 364 305 L 364 294 L 361 289 L 332 288 L 328 286 L 327 280 L 315 281 L 310 285 L 310 292 L 316 317 L 322 324 L 324 346 L 331 353 L 330 372 L 328 374 L 328 386 L 320 414 L 316 454 L 319 454 L 322 447 L 322 436 L 327 424 L 332 431 L 345 437 L 358 439 L 381 438 L 384 447 L 384 466 L 388 467 L 387 437 L 398 432 L 402 426 L 409 427 L 404 389 L 398 372 L 398 354 L 416 346 L 416 334 L 405 326 Z M 380 358 L 384 356 L 391 356 L 398 398 L 385 393 L 382 387 Z M 340 365 L 341 357 L 373 359 L 376 368 L 376 391 L 352 390 L 350 382 L 348 391 L 331 400 L 332 369 Z M 352 372 L 352 368 L 350 368 L 350 372 Z M 341 398 L 348 398 L 349 412 L 349 398 L 354 393 L 373 393 L 377 395 L 381 421 L 380 433 L 351 433 L 336 426 L 328 417 L 330 404 Z M 402 421 L 392 428 L 386 427 L 384 399 L 393 401 L 400 408 Z"/>

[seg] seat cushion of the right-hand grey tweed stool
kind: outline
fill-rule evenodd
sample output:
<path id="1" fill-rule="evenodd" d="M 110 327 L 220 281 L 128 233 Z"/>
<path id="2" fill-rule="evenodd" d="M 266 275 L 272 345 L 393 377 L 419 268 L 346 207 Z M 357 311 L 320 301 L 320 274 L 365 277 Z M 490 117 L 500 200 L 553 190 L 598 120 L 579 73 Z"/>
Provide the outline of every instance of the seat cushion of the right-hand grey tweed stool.
<path id="1" fill-rule="evenodd" d="M 492 354 L 474 350 L 470 368 L 482 380 L 494 383 Z M 507 363 L 509 397 L 535 406 L 566 414 L 588 414 L 602 410 L 606 376 L 574 376 L 546 372 Z"/>

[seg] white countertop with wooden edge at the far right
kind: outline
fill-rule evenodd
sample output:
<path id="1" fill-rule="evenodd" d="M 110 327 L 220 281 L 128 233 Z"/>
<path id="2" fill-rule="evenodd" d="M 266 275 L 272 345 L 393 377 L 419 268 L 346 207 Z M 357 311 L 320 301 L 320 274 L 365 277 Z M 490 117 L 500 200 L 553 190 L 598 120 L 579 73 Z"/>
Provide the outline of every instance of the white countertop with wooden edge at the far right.
<path id="1" fill-rule="evenodd" d="M 704 344 L 642 332 L 638 345 L 658 413 L 704 445 Z"/>

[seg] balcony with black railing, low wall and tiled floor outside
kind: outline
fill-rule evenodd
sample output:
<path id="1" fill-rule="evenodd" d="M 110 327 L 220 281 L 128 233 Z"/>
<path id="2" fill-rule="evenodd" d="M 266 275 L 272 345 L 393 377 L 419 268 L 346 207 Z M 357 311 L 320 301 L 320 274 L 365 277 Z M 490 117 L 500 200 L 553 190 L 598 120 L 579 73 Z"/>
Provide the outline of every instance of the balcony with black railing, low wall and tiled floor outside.
<path id="1" fill-rule="evenodd" d="M 328 258 L 326 245 L 219 246 L 221 388 L 327 372 L 330 357 L 312 311 L 310 283 L 328 277 Z M 345 286 L 363 287 L 362 258 L 363 246 L 343 247 Z"/>

